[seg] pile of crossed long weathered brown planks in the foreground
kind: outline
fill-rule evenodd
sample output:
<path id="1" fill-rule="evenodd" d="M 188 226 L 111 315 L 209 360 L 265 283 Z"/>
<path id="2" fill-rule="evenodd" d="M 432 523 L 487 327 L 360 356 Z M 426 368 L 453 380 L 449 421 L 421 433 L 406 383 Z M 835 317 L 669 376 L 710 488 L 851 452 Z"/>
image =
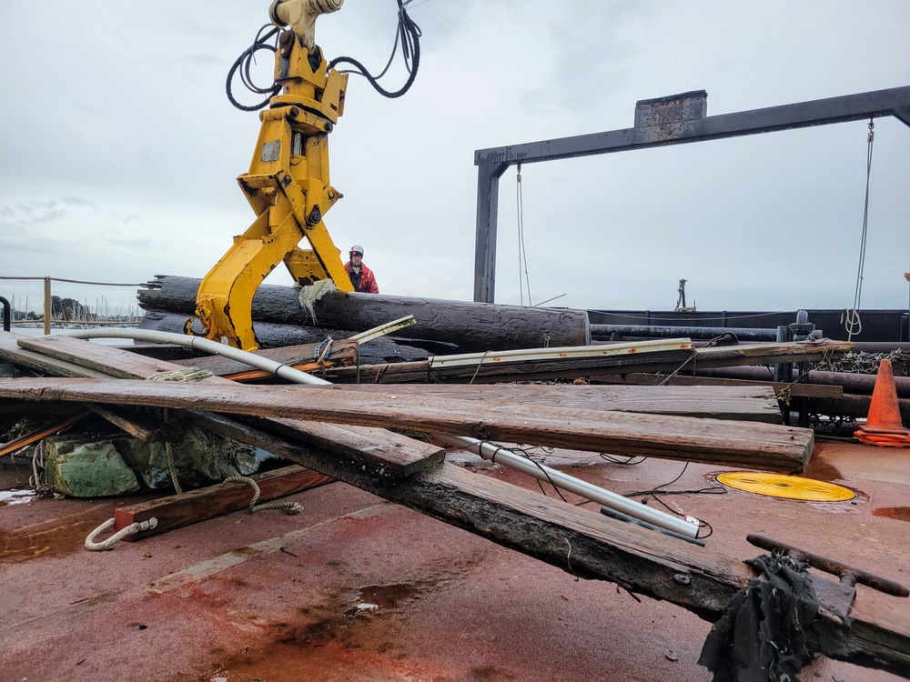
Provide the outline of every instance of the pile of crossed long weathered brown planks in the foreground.
<path id="1" fill-rule="evenodd" d="M 171 412 L 179 412 L 181 418 L 266 448 L 577 577 L 612 581 L 711 621 L 722 616 L 731 599 L 754 577 L 743 561 L 451 465 L 440 448 L 376 426 L 386 423 L 528 442 L 540 437 L 563 446 L 571 442 L 598 450 L 675 458 L 696 456 L 696 450 L 701 450 L 706 455 L 698 461 L 735 464 L 748 456 L 755 466 L 787 460 L 786 466 L 795 464 L 795 468 L 812 446 L 811 431 L 763 421 L 724 422 L 609 409 L 611 403 L 623 401 L 631 408 L 636 394 L 656 398 L 664 390 L 659 387 L 610 386 L 601 391 L 597 386 L 560 386 L 562 395 L 544 392 L 539 397 L 545 408 L 535 410 L 535 400 L 524 404 L 521 386 L 509 387 L 519 392 L 510 394 L 497 393 L 500 387 L 486 387 L 488 394 L 477 399 L 432 394 L 430 387 L 425 395 L 414 395 L 383 394 L 375 387 L 245 386 L 215 376 L 191 385 L 145 382 L 139 380 L 180 366 L 63 336 L 25 338 L 4 333 L 0 348 L 9 362 L 32 366 L 39 362 L 35 356 L 43 356 L 40 362 L 47 374 L 69 377 L 0 380 L 0 396 L 5 399 L 35 407 L 45 401 L 76 402 L 113 411 L 171 406 Z M 86 378 L 74 378 L 78 376 Z M 470 392 L 478 387 L 450 388 Z M 574 388 L 579 389 L 576 396 L 562 390 Z M 680 399 L 687 392 L 694 395 L 704 390 L 673 388 L 671 393 Z M 727 389 L 719 390 L 723 394 Z M 608 396 L 603 403 L 598 397 L 601 392 Z M 740 399 L 753 403 L 762 398 L 753 393 L 740 394 Z M 773 405 L 770 392 L 764 400 Z M 642 401 L 649 408 L 660 402 Z M 765 412 L 756 414 L 764 418 Z M 337 423 L 329 424 L 329 419 Z M 364 424 L 371 426 L 358 426 Z M 571 562 L 566 560 L 567 543 Z M 811 579 L 822 607 L 837 613 L 837 605 L 826 601 L 837 585 L 822 576 Z M 864 603 L 856 603 L 851 615 L 851 627 L 829 656 L 898 674 L 910 672 L 906 617 L 883 615 Z M 808 645 L 817 643 L 810 639 Z"/>

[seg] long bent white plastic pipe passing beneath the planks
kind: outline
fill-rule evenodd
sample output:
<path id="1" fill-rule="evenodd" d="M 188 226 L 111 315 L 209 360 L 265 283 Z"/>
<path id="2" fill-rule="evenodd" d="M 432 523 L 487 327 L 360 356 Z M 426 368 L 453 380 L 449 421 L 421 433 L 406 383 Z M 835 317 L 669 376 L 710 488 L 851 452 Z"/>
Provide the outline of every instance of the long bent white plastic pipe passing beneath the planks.
<path id="1" fill-rule="evenodd" d="M 212 355 L 224 356 L 232 360 L 237 360 L 238 362 L 256 367 L 257 369 L 262 369 L 274 376 L 287 379 L 295 384 L 308 384 L 310 386 L 331 385 L 330 381 L 320 379 L 319 376 L 309 375 L 306 372 L 301 372 L 293 367 L 282 365 L 275 360 L 270 360 L 268 357 L 258 356 L 255 353 L 240 350 L 233 346 L 227 346 L 226 344 L 219 344 L 217 341 L 212 341 L 211 339 L 202 338 L 200 336 L 157 332 L 149 329 L 116 329 L 109 327 L 99 329 L 76 329 L 62 332 L 61 335 L 74 336 L 76 338 L 131 338 L 136 341 L 153 341 L 156 343 L 174 344 L 175 346 L 189 346 L 191 348 L 198 348 L 199 350 L 206 351 Z M 465 436 L 441 436 L 437 434 L 434 437 L 439 438 L 441 441 L 449 443 L 450 445 L 470 450 L 484 459 L 489 459 L 490 461 L 497 462 L 504 466 L 510 466 L 513 469 L 534 476 L 541 481 L 550 482 L 554 486 L 561 487 L 571 493 L 590 499 L 592 502 L 597 502 L 603 506 L 609 506 L 615 511 L 646 521 L 653 526 L 672 530 L 672 532 L 679 533 L 685 537 L 698 536 L 697 520 L 692 522 L 672 517 L 665 512 L 653 509 L 650 506 L 642 505 L 640 502 L 635 502 L 628 497 L 617 495 L 602 487 L 593 486 L 586 481 L 582 481 L 581 478 L 569 476 L 568 474 L 563 474 L 561 471 L 552 469 L 549 466 L 533 462 L 526 456 L 516 455 L 505 447 L 496 446 L 487 441 L 480 441 L 477 438 Z"/>

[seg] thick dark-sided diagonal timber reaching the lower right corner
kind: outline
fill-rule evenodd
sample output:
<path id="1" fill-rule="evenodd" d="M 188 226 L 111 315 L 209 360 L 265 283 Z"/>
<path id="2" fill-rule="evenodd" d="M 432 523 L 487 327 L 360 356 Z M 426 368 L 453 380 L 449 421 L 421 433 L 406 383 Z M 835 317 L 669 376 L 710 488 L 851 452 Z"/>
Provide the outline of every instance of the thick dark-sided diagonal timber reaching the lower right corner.
<path id="1" fill-rule="evenodd" d="M 752 577 L 743 562 L 707 547 L 624 524 L 590 509 L 444 464 L 400 485 L 343 458 L 324 459 L 275 431 L 248 426 L 223 433 L 251 445 L 268 443 L 290 461 L 325 473 L 392 502 L 486 537 L 578 577 L 610 580 L 633 593 L 664 599 L 711 622 Z M 289 423 L 290 424 L 290 423 Z M 299 422 L 297 423 L 299 424 Z M 274 420 L 268 427 L 274 425 Z M 264 446 L 264 445 L 263 445 Z M 819 578 L 824 580 L 826 578 Z M 834 586 L 836 587 L 836 586 Z M 824 601 L 823 601 L 823 606 Z M 910 675 L 910 613 L 875 609 L 862 597 L 854 622 L 831 656 Z"/>

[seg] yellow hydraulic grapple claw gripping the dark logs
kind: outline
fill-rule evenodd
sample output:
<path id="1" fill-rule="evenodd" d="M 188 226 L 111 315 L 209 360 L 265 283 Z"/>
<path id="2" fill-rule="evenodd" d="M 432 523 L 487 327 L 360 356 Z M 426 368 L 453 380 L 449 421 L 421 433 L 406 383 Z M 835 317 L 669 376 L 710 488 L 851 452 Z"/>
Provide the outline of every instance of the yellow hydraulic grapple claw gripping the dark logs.
<path id="1" fill-rule="evenodd" d="M 329 133 L 344 110 L 348 75 L 328 71 L 319 47 L 308 50 L 292 31 L 279 39 L 275 78 L 282 92 L 259 115 L 249 172 L 238 176 L 256 220 L 202 280 L 197 292 L 201 333 L 244 350 L 258 348 L 253 296 L 284 263 L 299 285 L 330 278 L 353 291 L 340 250 L 322 216 L 342 197 L 329 183 Z M 313 65 L 316 68 L 313 68 Z M 298 244 L 306 239 L 310 249 Z"/>

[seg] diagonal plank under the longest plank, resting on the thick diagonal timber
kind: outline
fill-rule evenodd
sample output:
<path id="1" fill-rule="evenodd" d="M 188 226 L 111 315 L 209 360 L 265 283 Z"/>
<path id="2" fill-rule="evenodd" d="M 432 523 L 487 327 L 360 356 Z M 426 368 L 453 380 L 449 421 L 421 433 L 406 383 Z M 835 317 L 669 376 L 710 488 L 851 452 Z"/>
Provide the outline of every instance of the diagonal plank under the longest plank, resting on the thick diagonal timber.
<path id="1" fill-rule="evenodd" d="M 147 379 L 149 376 L 169 372 L 184 367 L 140 356 L 114 346 L 101 346 L 68 336 L 43 336 L 28 338 L 18 336 L 17 343 L 25 343 L 37 352 L 72 358 L 80 364 L 105 369 L 111 376 L 126 376 Z M 75 364 L 72 366 L 76 366 Z M 95 370 L 86 370 L 95 371 Z M 151 384 L 152 382 L 149 382 Z M 168 382 L 171 383 L 171 382 Z M 194 385 L 201 386 L 236 386 L 227 379 L 210 376 Z M 190 406 L 193 409 L 196 406 Z M 199 426 L 207 426 L 210 416 L 193 410 L 194 421 Z M 305 434 L 305 436 L 303 436 Z M 421 443 L 407 436 L 400 436 L 381 428 L 365 426 L 339 427 L 319 422 L 308 422 L 301 425 L 300 437 L 306 437 L 312 446 L 321 447 L 329 452 L 356 459 L 362 463 L 376 464 L 387 476 L 411 476 L 445 459 L 445 450 Z"/>

